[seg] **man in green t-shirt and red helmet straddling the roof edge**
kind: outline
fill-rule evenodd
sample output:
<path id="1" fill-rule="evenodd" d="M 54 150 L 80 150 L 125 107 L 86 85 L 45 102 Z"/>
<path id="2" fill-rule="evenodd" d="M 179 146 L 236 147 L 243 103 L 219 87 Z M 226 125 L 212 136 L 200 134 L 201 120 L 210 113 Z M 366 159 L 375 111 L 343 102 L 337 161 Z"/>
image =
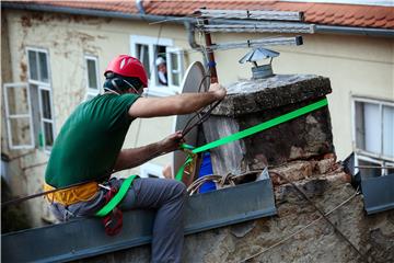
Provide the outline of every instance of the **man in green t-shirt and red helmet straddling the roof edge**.
<path id="1" fill-rule="evenodd" d="M 114 58 L 104 75 L 105 93 L 74 110 L 51 150 L 46 190 L 70 186 L 47 196 L 60 220 L 93 216 L 105 206 L 111 188 L 118 190 L 124 182 L 109 179 L 112 173 L 178 149 L 179 132 L 148 146 L 121 149 L 135 118 L 189 114 L 225 96 L 221 85 L 212 84 L 205 93 L 142 98 L 148 85 L 146 70 L 138 59 L 127 55 Z M 152 262 L 181 262 L 185 198 L 186 186 L 182 182 L 136 179 L 119 203 L 121 209 L 157 210 Z"/>

